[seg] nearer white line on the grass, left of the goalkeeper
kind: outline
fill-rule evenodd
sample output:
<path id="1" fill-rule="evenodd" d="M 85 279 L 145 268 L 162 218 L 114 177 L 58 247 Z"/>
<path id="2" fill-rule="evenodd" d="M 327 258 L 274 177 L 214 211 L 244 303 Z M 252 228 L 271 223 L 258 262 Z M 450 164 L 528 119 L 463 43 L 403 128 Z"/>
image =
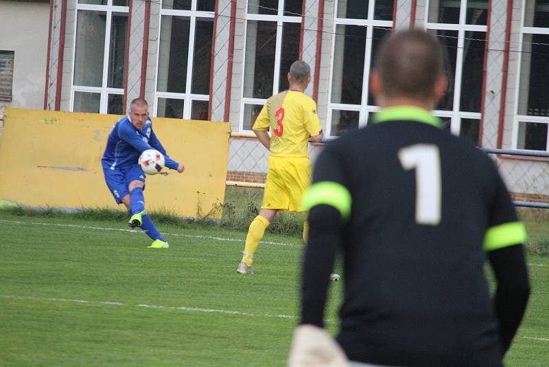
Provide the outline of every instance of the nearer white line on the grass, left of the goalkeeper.
<path id="1" fill-rule="evenodd" d="M 202 309 L 200 307 L 176 307 L 176 306 L 161 306 L 157 304 L 124 304 L 121 302 L 111 302 L 111 301 L 90 301 L 90 300 L 74 300 L 70 298 L 40 298 L 33 296 L 10 296 L 0 294 L 0 298 L 8 298 L 12 300 L 36 300 L 36 301 L 49 301 L 49 302 L 71 302 L 79 304 L 103 304 L 106 306 L 130 306 L 130 307 L 141 307 L 145 309 L 163 309 L 163 310 L 174 310 L 174 311 L 187 311 L 187 312 L 204 312 L 204 313 L 223 313 L 225 315 L 242 315 L 242 316 L 255 316 L 255 317 L 264 317 L 264 318 L 283 318 L 283 319 L 295 319 L 296 316 L 292 315 L 271 315 L 270 313 L 250 313 L 243 311 L 231 311 L 224 309 Z M 329 321 L 329 320 L 326 320 Z"/>

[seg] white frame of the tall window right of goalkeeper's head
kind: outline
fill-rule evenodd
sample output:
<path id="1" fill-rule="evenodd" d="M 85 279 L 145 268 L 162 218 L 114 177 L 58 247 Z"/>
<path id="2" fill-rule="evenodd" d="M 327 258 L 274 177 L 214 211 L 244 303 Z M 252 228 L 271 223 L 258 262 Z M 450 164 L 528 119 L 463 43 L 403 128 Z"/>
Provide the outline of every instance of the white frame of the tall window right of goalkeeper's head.
<path id="1" fill-rule="evenodd" d="M 425 4 L 425 30 L 450 30 L 458 32 L 458 49 L 456 52 L 456 75 L 454 82 L 454 101 L 452 104 L 452 111 L 434 110 L 432 113 L 441 118 L 449 118 L 450 132 L 454 135 L 460 135 L 461 119 L 479 120 L 479 123 L 482 119 L 482 113 L 480 112 L 460 111 L 461 76 L 463 74 L 463 47 L 465 45 L 465 34 L 466 32 L 484 32 L 484 34 L 487 35 L 488 25 L 472 25 L 465 23 L 467 21 L 467 0 L 460 0 L 459 23 L 430 23 L 428 21 L 430 1 L 431 0 L 428 0 Z M 485 36 L 484 40 L 486 39 L 487 37 Z M 484 55 L 484 58 L 486 57 L 487 55 Z M 483 76 L 483 78 L 484 77 L 485 76 Z M 482 99 L 484 96 L 481 95 L 480 98 Z"/>

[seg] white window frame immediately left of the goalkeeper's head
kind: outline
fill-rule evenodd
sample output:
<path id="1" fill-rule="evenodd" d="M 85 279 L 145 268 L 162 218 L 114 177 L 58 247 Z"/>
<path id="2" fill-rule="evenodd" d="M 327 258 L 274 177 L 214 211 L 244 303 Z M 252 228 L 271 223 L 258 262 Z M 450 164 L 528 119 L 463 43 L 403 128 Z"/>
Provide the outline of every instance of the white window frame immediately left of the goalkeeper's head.
<path id="1" fill-rule="evenodd" d="M 331 134 L 331 119 L 334 110 L 339 111 L 358 111 L 358 126 L 366 126 L 368 123 L 369 114 L 379 111 L 379 107 L 371 106 L 368 104 L 369 98 L 369 80 L 370 80 L 370 64 L 372 58 L 372 43 L 373 43 L 373 30 L 375 27 L 393 28 L 394 21 L 380 21 L 374 19 L 375 1 L 371 0 L 368 3 L 368 16 L 367 19 L 351 19 L 338 17 L 338 5 L 339 0 L 334 4 L 334 21 L 332 26 L 332 41 L 330 55 L 332 56 L 332 62 L 330 65 L 329 74 L 329 88 L 328 88 L 328 113 L 326 116 L 325 132 L 327 137 L 337 137 L 338 135 Z M 331 91 L 333 87 L 332 80 L 334 78 L 334 54 L 336 52 L 336 30 L 338 25 L 360 25 L 366 27 L 366 52 L 364 54 L 364 75 L 362 77 L 362 98 L 360 104 L 344 104 L 331 102 Z"/>

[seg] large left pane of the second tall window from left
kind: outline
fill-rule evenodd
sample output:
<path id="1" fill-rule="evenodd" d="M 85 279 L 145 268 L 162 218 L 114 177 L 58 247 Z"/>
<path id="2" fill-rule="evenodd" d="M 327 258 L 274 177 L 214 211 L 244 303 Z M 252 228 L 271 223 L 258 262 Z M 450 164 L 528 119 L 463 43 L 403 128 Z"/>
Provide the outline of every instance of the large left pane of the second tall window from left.
<path id="1" fill-rule="evenodd" d="M 157 91 L 185 93 L 190 27 L 185 16 L 162 16 Z"/>

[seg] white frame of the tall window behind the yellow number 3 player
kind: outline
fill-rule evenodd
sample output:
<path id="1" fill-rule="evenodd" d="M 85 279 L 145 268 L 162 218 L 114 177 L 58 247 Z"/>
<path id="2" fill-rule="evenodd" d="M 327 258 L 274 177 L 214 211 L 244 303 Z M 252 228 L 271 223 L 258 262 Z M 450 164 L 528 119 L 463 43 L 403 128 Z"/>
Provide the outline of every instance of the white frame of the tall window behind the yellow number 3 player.
<path id="1" fill-rule="evenodd" d="M 246 49 L 247 49 L 247 34 L 248 34 L 248 21 L 271 21 L 277 22 L 277 43 L 274 48 L 274 80 L 272 81 L 272 95 L 279 93 L 279 79 L 280 79 L 280 58 L 282 54 L 282 27 L 283 23 L 300 23 L 303 21 L 302 16 L 290 16 L 284 15 L 284 1 L 292 0 L 279 0 L 279 6 L 277 15 L 274 14 L 250 14 L 248 13 L 248 1 L 246 1 L 246 16 L 244 21 L 244 59 L 242 62 L 242 92 L 240 101 L 240 116 L 239 116 L 239 130 L 251 131 L 244 129 L 244 107 L 246 104 L 265 104 L 266 98 L 250 98 L 244 97 L 244 77 L 246 76 Z M 303 0 L 305 1 L 305 0 Z M 301 31 L 300 31 L 301 32 Z"/>

